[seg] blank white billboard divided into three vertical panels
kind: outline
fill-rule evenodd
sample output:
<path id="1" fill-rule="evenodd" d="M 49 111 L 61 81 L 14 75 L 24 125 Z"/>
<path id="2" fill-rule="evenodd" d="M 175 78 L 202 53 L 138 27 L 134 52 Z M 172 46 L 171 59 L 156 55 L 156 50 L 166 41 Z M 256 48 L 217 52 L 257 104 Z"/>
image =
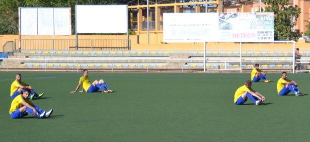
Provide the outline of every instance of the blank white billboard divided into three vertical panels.
<path id="1" fill-rule="evenodd" d="M 71 8 L 19 8 L 21 35 L 71 35 Z"/>

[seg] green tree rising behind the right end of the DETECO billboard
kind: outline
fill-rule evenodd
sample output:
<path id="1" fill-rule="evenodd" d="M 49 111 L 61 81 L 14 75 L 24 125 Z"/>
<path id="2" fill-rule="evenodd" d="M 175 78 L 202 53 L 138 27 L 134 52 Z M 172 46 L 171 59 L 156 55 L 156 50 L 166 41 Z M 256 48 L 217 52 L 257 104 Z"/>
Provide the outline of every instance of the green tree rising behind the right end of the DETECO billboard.
<path id="1" fill-rule="evenodd" d="M 297 40 L 302 36 L 300 30 L 292 31 L 301 13 L 297 5 L 289 5 L 289 0 L 262 0 L 262 2 L 267 4 L 264 12 L 274 12 L 275 40 Z"/>

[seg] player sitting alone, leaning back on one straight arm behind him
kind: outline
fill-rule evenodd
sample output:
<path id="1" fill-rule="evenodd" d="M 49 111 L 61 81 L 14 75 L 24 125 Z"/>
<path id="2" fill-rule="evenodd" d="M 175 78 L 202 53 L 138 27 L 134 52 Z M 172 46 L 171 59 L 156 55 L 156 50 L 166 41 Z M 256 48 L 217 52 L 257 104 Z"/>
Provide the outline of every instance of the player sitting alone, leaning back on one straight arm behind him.
<path id="1" fill-rule="evenodd" d="M 83 76 L 79 78 L 76 90 L 70 93 L 76 93 L 80 85 L 83 85 L 80 92 L 98 92 L 98 90 L 102 91 L 102 93 L 114 92 L 113 90 L 109 89 L 108 85 L 102 79 L 99 81 L 95 80 L 90 83 L 87 70 L 83 70 Z"/>

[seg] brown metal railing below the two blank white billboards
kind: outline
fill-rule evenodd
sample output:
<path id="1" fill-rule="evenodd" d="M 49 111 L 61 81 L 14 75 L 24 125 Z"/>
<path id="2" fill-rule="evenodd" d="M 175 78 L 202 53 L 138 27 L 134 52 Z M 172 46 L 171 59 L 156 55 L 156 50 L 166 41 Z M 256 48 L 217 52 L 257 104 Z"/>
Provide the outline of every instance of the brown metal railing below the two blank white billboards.
<path id="1" fill-rule="evenodd" d="M 15 39 L 20 50 L 76 50 L 75 39 Z M 127 39 L 79 39 L 78 50 L 127 50 Z"/>

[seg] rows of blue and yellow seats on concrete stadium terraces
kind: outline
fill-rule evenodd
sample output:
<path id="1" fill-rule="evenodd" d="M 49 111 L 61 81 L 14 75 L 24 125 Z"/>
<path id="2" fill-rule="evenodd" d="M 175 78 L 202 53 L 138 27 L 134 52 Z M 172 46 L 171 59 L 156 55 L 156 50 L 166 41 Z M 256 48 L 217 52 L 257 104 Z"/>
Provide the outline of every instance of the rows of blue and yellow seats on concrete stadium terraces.
<path id="1" fill-rule="evenodd" d="M 22 57 L 23 60 L 12 60 L 7 64 L 10 65 L 10 68 L 16 69 L 27 67 L 28 69 L 149 68 L 196 70 L 204 67 L 203 55 L 204 52 L 202 51 L 21 51 L 20 53 L 14 53 L 9 58 Z M 207 69 L 240 68 L 240 55 L 237 51 L 207 51 L 206 55 Z M 78 62 L 75 59 L 78 59 Z M 289 51 L 242 51 L 242 69 L 251 70 L 254 64 L 258 63 L 264 70 L 290 70 L 292 68 L 292 59 L 292 53 Z M 304 51 L 302 59 L 310 60 L 310 51 Z M 225 60 L 227 60 L 227 63 L 224 63 Z M 2 68 L 6 67 L 5 64 L 5 62 L 1 64 Z M 309 65 L 305 67 L 309 68 Z"/>

